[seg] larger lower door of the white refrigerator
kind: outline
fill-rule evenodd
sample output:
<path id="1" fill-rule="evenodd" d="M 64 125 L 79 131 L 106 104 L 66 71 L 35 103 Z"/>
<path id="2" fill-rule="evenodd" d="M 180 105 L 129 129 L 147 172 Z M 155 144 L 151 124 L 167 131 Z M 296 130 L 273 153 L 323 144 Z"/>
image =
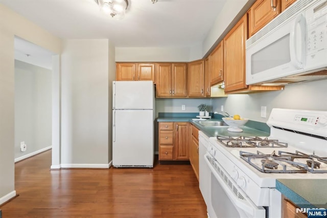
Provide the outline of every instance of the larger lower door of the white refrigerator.
<path id="1" fill-rule="evenodd" d="M 153 167 L 153 111 L 113 110 L 112 165 Z"/>

